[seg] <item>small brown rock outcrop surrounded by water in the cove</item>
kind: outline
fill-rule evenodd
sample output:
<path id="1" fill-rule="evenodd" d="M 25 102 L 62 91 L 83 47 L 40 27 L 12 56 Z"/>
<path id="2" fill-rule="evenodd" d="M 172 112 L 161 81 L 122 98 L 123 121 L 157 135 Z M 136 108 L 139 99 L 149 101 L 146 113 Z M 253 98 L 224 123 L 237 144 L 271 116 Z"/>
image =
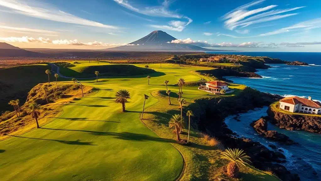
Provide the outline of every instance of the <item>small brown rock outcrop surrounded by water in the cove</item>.
<path id="1" fill-rule="evenodd" d="M 261 117 L 260 119 L 253 121 L 250 125 L 256 130 L 257 133 L 263 135 L 267 139 L 278 141 L 287 145 L 298 144 L 285 134 L 278 133 L 277 131 L 267 131 L 267 119 L 268 117 Z"/>

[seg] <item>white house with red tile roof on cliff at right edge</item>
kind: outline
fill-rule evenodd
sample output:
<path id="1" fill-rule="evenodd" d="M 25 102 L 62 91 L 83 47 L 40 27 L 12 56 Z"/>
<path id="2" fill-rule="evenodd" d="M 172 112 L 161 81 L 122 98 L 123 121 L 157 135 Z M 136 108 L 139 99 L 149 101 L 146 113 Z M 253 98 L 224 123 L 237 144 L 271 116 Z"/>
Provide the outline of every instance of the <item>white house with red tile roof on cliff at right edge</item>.
<path id="1" fill-rule="evenodd" d="M 321 103 L 313 101 L 310 96 L 308 99 L 298 96 L 285 97 L 280 100 L 280 109 L 292 113 L 321 114 Z"/>

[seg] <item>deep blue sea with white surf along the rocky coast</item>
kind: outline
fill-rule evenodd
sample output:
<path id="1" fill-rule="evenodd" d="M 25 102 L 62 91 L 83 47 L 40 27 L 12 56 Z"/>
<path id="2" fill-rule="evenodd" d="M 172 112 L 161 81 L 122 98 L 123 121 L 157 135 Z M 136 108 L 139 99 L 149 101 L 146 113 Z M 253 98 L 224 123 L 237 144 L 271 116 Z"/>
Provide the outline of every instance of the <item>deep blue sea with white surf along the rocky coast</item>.
<path id="1" fill-rule="evenodd" d="M 212 52 L 211 52 L 212 53 Z M 222 54 L 238 54 L 250 56 L 267 56 L 287 61 L 303 61 L 309 66 L 290 66 L 283 64 L 269 64 L 272 68 L 259 69 L 257 74 L 263 78 L 225 77 L 237 84 L 244 84 L 262 92 L 279 95 L 298 95 L 313 100 L 321 100 L 321 52 L 213 52 Z M 272 124 L 269 130 L 276 130 L 286 134 L 299 145 L 282 145 L 277 142 L 266 140 L 259 136 L 249 124 L 253 120 L 265 116 L 267 107 L 256 109 L 248 113 L 240 114 L 241 122 L 233 119 L 234 116 L 226 118 L 225 122 L 229 128 L 240 136 L 260 141 L 265 146 L 274 144 L 282 149 L 287 157 L 284 164 L 293 173 L 299 174 L 301 180 L 321 180 L 321 134 L 307 131 L 288 131 L 280 129 Z M 317 176 L 312 174 L 317 172 Z"/>

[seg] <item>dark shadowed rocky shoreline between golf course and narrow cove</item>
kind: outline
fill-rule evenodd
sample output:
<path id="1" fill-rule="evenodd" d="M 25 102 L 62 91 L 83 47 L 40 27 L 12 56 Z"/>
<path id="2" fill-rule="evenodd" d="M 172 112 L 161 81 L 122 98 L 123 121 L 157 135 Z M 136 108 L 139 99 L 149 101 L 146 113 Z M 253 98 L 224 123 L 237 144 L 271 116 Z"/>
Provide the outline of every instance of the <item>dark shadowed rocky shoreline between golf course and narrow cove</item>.
<path id="1" fill-rule="evenodd" d="M 283 181 L 298 181 L 300 178 L 297 174 L 292 174 L 281 165 L 286 162 L 286 157 L 281 152 L 272 151 L 260 142 L 237 137 L 224 122 L 229 115 L 270 105 L 279 98 L 278 95 L 261 93 L 247 87 L 237 96 L 196 100 L 188 109 L 193 110 L 194 120 L 198 120 L 193 122 L 194 127 L 215 136 L 225 147 L 243 149 L 251 157 L 254 167 L 271 170 Z"/>

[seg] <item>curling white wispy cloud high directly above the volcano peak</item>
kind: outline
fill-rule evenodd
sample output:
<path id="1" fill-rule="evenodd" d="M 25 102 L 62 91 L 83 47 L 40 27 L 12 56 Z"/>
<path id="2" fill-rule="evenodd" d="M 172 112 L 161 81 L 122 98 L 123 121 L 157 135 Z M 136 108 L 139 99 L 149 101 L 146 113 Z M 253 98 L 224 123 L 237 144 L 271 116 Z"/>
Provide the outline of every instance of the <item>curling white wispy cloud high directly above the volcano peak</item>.
<path id="1" fill-rule="evenodd" d="M 131 5 L 127 0 L 113 0 L 119 5 L 126 7 L 129 10 L 132 10 L 136 13 L 148 15 L 148 16 L 155 16 L 155 17 L 168 17 L 168 18 L 177 18 L 177 19 L 187 19 L 188 21 L 170 21 L 168 25 L 156 25 L 151 24 L 151 27 L 158 28 L 158 29 L 166 29 L 171 31 L 181 32 L 184 28 L 193 22 L 193 20 L 187 16 L 178 14 L 175 11 L 169 10 L 169 1 L 165 0 L 159 6 L 153 7 L 145 7 L 143 9 L 139 9 Z"/>

